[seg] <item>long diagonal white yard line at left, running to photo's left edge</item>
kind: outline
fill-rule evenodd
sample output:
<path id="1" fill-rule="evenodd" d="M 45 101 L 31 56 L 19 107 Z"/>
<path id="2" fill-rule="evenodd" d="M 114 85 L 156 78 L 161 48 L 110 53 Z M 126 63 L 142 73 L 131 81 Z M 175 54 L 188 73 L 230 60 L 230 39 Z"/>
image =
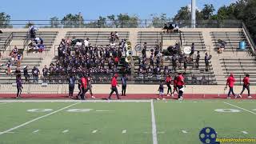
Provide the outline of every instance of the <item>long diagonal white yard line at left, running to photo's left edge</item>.
<path id="1" fill-rule="evenodd" d="M 43 115 L 43 116 L 41 116 L 41 117 L 38 117 L 38 118 L 34 118 L 34 119 L 30 120 L 29 122 L 22 123 L 21 125 L 18 125 L 18 126 L 15 126 L 15 127 L 13 127 L 13 128 L 10 128 L 9 130 L 5 130 L 5 131 L 3 131 L 3 132 L 0 132 L 0 135 L 6 134 L 6 133 L 8 133 L 8 132 L 10 132 L 10 131 L 12 131 L 12 130 L 16 130 L 16 129 L 22 127 L 22 126 L 26 126 L 26 125 L 30 124 L 31 122 L 35 122 L 35 121 L 37 121 L 37 120 L 39 120 L 39 119 L 41 119 L 41 118 L 46 118 L 47 116 L 49 116 L 49 115 L 51 115 L 51 114 L 58 113 L 59 111 L 62 111 L 62 110 L 65 110 L 65 109 L 67 109 L 67 108 L 69 108 L 69 107 L 71 107 L 71 106 L 77 105 L 78 103 L 80 103 L 80 102 L 73 103 L 73 104 L 71 104 L 71 105 L 69 105 L 69 106 L 63 107 L 62 109 L 56 110 L 56 111 L 51 112 L 51 113 L 49 113 L 49 114 L 45 114 L 45 115 Z"/>

